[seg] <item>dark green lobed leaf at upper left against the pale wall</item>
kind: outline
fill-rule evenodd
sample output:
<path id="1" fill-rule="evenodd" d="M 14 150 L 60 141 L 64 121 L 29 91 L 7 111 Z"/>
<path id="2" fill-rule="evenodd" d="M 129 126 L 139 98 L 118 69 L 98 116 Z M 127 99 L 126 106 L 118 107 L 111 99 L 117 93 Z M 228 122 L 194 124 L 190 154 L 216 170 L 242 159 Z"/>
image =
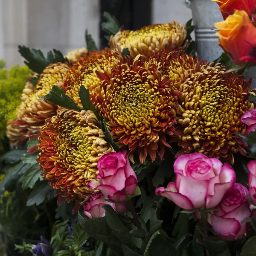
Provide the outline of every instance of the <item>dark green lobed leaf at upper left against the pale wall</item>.
<path id="1" fill-rule="evenodd" d="M 67 58 L 64 58 L 62 53 L 58 50 L 53 49 L 47 53 L 47 58 L 44 57 L 41 50 L 32 49 L 30 50 L 26 46 L 19 45 L 19 52 L 23 58 L 26 59 L 24 63 L 34 72 L 41 74 L 44 69 L 49 65 L 57 62 L 69 62 Z"/>

